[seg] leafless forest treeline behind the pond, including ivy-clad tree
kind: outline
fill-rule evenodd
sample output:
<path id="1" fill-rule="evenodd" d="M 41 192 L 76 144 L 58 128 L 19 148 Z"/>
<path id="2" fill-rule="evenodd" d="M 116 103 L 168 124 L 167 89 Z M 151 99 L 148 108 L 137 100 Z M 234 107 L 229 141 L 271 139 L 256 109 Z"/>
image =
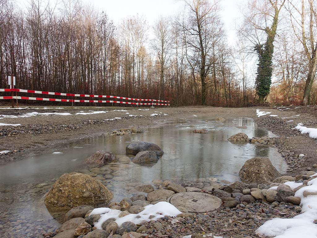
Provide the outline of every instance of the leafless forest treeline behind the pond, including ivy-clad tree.
<path id="1" fill-rule="evenodd" d="M 13 74 L 21 89 L 172 105 L 317 104 L 316 0 L 250 0 L 242 9 L 232 46 L 217 0 L 185 0 L 153 25 L 139 15 L 115 25 L 78 0 L 26 8 L 0 0 L 0 88 Z"/>

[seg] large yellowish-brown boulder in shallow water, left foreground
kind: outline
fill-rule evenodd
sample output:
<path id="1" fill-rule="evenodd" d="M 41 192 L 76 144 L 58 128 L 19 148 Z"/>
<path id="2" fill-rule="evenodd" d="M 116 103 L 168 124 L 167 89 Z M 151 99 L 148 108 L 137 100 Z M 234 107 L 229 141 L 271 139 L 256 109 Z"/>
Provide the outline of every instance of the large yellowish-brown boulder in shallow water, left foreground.
<path id="1" fill-rule="evenodd" d="M 71 209 L 83 205 L 108 204 L 113 194 L 91 176 L 81 173 L 63 174 L 44 197 L 49 209 Z"/>

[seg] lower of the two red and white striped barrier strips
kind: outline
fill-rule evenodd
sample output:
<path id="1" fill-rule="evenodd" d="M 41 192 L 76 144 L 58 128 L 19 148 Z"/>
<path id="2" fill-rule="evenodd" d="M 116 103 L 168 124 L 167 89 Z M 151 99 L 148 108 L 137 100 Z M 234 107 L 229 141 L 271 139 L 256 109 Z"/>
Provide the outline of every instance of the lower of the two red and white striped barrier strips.
<path id="1" fill-rule="evenodd" d="M 21 99 L 21 100 L 37 100 L 37 101 L 50 101 L 50 102 L 101 102 L 101 103 L 121 103 L 132 105 L 158 105 L 169 106 L 170 104 L 164 103 L 141 103 L 141 102 L 122 102 L 112 100 L 73 100 L 73 99 L 58 99 L 58 98 L 43 98 L 43 97 L 22 97 L 22 96 L 0 96 L 0 99 Z"/>

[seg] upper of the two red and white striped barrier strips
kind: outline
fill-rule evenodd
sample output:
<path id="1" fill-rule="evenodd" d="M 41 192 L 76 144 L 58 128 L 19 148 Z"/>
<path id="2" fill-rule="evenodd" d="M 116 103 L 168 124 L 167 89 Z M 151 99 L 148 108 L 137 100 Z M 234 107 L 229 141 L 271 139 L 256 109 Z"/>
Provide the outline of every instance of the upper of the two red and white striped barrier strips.
<path id="1" fill-rule="evenodd" d="M 156 99 L 139 99 L 139 98 L 109 96 L 109 95 L 55 93 L 55 92 L 36 91 L 36 90 L 28 90 L 28 89 L 0 89 L 0 92 L 21 92 L 21 93 L 49 94 L 49 95 L 72 96 L 72 97 L 102 97 L 102 98 L 116 98 L 116 99 L 123 99 L 123 100 L 132 100 L 132 101 L 169 102 L 169 101 L 156 100 Z"/>

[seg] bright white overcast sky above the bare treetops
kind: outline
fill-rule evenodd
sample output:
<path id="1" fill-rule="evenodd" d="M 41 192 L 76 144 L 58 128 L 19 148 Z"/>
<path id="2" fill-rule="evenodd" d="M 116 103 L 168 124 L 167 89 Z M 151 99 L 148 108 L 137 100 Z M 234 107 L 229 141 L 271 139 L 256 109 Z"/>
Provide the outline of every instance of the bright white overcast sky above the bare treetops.
<path id="1" fill-rule="evenodd" d="M 47 2 L 54 4 L 59 0 L 43 0 L 42 5 Z M 81 0 L 84 4 L 91 4 L 96 10 L 105 11 L 113 20 L 115 25 L 120 20 L 133 15 L 144 15 L 152 25 L 160 16 L 173 16 L 184 9 L 184 2 L 181 0 Z M 211 0 L 212 1 L 212 0 Z M 221 16 L 226 28 L 228 43 L 233 44 L 236 38 L 236 22 L 240 22 L 242 14 L 240 7 L 246 6 L 248 0 L 221 0 Z M 30 0 L 17 0 L 20 6 L 25 8 Z M 61 6 L 61 5 L 60 5 Z M 150 28 L 151 30 L 152 28 Z M 151 32 L 149 32 L 151 36 Z"/>

